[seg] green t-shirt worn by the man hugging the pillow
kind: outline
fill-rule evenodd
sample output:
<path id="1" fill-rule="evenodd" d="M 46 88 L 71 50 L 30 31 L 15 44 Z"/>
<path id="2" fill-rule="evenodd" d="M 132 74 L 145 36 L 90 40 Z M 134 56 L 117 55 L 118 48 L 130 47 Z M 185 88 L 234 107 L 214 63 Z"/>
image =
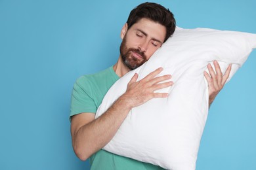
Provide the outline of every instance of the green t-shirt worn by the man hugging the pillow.
<path id="1" fill-rule="evenodd" d="M 113 67 L 94 75 L 84 75 L 74 84 L 70 116 L 81 112 L 96 113 L 110 87 L 119 79 Z M 125 158 L 105 150 L 99 150 L 90 158 L 92 170 L 156 170 L 162 169 L 150 163 Z"/>

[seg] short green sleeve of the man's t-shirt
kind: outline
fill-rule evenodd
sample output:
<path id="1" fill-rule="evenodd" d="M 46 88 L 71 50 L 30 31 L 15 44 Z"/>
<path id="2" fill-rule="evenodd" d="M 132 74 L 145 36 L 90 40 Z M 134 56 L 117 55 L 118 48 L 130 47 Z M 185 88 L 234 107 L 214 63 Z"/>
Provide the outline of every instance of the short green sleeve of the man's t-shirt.
<path id="1" fill-rule="evenodd" d="M 72 90 L 70 116 L 81 112 L 96 112 L 96 105 L 91 91 L 91 83 L 85 76 L 81 76 L 76 80 Z"/>

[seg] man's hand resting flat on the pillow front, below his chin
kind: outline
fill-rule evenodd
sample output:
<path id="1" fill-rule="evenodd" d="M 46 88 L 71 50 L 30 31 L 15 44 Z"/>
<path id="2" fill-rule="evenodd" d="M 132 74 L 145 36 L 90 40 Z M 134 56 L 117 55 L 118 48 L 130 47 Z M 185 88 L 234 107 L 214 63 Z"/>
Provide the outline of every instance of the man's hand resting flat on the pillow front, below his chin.
<path id="1" fill-rule="evenodd" d="M 158 68 L 138 82 L 138 75 L 135 73 L 127 85 L 127 91 L 122 95 L 128 101 L 127 105 L 130 109 L 142 105 L 152 98 L 168 96 L 168 93 L 155 92 L 173 85 L 172 81 L 166 82 L 171 78 L 171 75 L 157 76 L 161 71 L 163 71 L 163 68 Z"/>

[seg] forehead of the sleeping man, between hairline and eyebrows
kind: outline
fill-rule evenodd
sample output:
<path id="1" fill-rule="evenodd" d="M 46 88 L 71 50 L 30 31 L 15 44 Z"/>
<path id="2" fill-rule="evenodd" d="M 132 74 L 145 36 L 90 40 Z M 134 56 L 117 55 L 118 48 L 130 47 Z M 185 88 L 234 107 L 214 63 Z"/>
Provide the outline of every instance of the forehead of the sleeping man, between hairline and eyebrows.
<path id="1" fill-rule="evenodd" d="M 140 19 L 137 23 L 133 24 L 130 29 L 142 30 L 148 35 L 148 37 L 158 39 L 161 42 L 164 41 L 166 35 L 165 26 L 146 18 Z"/>

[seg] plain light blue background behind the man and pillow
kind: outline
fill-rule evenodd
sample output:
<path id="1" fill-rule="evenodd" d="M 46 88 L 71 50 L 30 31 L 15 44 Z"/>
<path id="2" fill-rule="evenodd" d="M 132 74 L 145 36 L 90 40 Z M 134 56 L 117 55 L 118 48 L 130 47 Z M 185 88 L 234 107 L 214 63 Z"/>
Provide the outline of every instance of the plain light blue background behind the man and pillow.
<path id="1" fill-rule="evenodd" d="M 89 169 L 71 144 L 79 76 L 113 65 L 120 30 L 144 1 L 0 0 L 0 169 Z M 256 1 L 154 1 L 185 28 L 256 33 Z M 215 99 L 197 169 L 256 169 L 256 51 Z"/>

